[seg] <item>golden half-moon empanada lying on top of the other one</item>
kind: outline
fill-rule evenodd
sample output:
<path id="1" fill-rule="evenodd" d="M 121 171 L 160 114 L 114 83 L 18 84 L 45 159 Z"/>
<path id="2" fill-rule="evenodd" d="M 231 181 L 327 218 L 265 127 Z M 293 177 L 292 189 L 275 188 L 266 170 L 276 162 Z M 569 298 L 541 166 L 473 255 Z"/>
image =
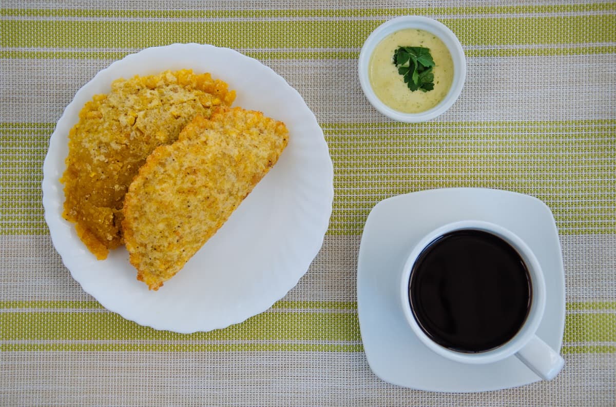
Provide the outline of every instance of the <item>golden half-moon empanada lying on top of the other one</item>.
<path id="1" fill-rule="evenodd" d="M 124 240 L 151 290 L 175 275 L 222 226 L 288 142 L 261 112 L 219 108 L 187 125 L 139 169 L 124 201 Z"/>

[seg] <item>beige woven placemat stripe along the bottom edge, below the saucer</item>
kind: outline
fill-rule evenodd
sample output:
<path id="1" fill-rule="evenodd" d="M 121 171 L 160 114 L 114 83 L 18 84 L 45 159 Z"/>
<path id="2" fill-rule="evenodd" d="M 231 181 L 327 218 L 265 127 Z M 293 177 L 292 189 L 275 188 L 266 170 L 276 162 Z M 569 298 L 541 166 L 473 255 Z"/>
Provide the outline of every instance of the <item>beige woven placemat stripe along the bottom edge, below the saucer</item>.
<path id="1" fill-rule="evenodd" d="M 616 354 L 565 355 L 551 382 L 489 393 L 381 381 L 365 355 L 333 352 L 5 352 L 7 405 L 608 406 Z M 416 366 L 410 366 L 415 368 Z M 121 397 L 118 399 L 118 397 Z M 112 401 L 113 400 L 113 401 Z M 122 400 L 122 401 L 120 401 Z"/>

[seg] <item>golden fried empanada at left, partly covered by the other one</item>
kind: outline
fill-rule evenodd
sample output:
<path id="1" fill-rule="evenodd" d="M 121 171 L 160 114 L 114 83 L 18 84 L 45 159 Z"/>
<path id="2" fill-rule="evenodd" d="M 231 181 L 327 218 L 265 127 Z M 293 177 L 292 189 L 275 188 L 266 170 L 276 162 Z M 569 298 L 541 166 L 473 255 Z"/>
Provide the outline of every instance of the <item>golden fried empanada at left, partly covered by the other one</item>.
<path id="1" fill-rule="evenodd" d="M 225 82 L 183 69 L 118 79 L 86 103 L 69 134 L 62 215 L 98 259 L 123 243 L 124 194 L 146 157 L 197 114 L 209 117 L 234 98 Z"/>

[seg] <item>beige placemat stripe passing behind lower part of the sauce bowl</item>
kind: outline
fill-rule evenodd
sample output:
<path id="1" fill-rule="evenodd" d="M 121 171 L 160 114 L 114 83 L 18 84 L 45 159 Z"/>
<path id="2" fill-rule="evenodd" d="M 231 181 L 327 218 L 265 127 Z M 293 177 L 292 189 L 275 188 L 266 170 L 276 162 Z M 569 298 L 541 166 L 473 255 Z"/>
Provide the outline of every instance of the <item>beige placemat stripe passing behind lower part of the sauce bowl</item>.
<path id="1" fill-rule="evenodd" d="M 12 104 L 2 121 L 57 121 L 79 87 L 111 62 L 46 59 L 33 65 L 31 60 L 4 60 L 3 90 L 12 95 Z M 265 63 L 301 93 L 319 122 L 386 121 L 363 95 L 355 61 Z M 71 82 L 66 81 L 67 72 Z M 613 119 L 614 83 L 612 55 L 468 58 L 462 95 L 437 121 Z M 33 108 L 41 105 L 41 98 L 44 108 Z"/>

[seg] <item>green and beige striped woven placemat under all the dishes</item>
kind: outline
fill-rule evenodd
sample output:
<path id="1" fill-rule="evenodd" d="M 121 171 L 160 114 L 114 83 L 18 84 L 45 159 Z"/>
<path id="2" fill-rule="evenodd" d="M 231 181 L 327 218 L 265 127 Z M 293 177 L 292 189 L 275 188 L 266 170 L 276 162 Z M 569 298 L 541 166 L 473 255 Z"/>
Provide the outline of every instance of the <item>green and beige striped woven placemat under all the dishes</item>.
<path id="1" fill-rule="evenodd" d="M 578 1 L 17 1 L 0 5 L 0 405 L 616 405 L 616 4 Z M 392 122 L 357 78 L 363 41 L 399 15 L 460 38 L 466 85 L 444 115 Z M 42 164 L 63 108 L 97 71 L 153 45 L 258 58 L 314 111 L 334 163 L 322 251 L 272 309 L 224 330 L 154 331 L 71 279 L 43 219 Z M 224 79 L 224 78 L 223 78 Z M 471 186 L 535 196 L 565 264 L 565 368 L 496 392 L 381 381 L 355 278 L 379 200 Z M 413 366 L 408 366 L 413 369 Z"/>

